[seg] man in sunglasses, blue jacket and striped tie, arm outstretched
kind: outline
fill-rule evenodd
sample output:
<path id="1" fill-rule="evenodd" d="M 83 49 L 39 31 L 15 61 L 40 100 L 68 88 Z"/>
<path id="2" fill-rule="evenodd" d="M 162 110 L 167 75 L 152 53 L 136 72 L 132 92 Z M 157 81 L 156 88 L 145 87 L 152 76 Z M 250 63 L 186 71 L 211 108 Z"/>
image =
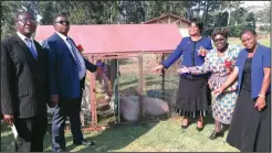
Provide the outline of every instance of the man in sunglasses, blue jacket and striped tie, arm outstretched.
<path id="1" fill-rule="evenodd" d="M 73 144 L 90 145 L 81 131 L 81 101 L 86 69 L 101 73 L 101 67 L 91 64 L 77 51 L 74 41 L 67 36 L 70 22 L 64 14 L 54 18 L 55 33 L 43 41 L 49 52 L 50 95 L 54 103 L 52 119 L 52 150 L 65 151 L 64 125 L 69 117 Z"/>

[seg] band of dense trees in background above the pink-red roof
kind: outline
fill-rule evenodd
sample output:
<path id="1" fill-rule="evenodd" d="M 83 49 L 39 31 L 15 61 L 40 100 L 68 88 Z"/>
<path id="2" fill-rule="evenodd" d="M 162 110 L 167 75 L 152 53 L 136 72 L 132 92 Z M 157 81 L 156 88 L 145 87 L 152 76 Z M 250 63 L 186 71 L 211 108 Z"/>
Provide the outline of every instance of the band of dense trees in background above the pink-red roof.
<path id="1" fill-rule="evenodd" d="M 41 15 L 40 24 L 43 25 L 52 24 L 54 15 L 62 12 L 66 13 L 72 24 L 139 24 L 163 13 L 172 13 L 187 20 L 201 19 L 205 26 L 209 28 L 205 32 L 207 35 L 210 35 L 215 28 L 231 26 L 231 36 L 238 35 L 240 25 L 254 29 L 257 21 L 270 21 L 269 7 L 258 13 L 249 13 L 241 7 L 242 3 L 241 1 L 201 0 L 3 1 L 1 2 L 1 34 L 6 37 L 15 32 L 13 17 L 22 10 Z"/>

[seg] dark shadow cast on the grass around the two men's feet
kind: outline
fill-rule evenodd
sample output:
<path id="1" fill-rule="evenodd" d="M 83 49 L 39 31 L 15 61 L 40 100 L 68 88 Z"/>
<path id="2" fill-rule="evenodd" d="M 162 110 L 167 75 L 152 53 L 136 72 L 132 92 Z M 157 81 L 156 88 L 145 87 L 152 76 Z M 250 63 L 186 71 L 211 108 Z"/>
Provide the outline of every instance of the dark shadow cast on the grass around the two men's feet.
<path id="1" fill-rule="evenodd" d="M 70 132 L 65 133 L 66 151 L 73 152 L 107 152 L 113 150 L 122 150 L 129 145 L 132 142 L 148 132 L 157 122 L 137 122 L 137 123 L 121 123 L 111 125 L 102 132 L 85 132 L 83 136 L 88 141 L 94 141 L 95 145 L 83 146 L 73 145 L 73 136 Z M 1 125 L 1 152 L 14 152 L 13 134 L 7 124 Z M 48 127 L 44 136 L 44 152 L 52 152 L 52 133 L 51 125 Z"/>

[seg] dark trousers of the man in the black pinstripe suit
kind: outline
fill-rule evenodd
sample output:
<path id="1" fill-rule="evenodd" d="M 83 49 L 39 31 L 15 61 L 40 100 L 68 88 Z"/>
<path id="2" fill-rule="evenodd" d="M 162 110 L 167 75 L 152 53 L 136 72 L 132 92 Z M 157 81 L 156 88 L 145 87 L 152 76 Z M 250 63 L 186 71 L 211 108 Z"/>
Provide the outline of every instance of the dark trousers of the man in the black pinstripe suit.
<path id="1" fill-rule="evenodd" d="M 19 138 L 17 152 L 43 152 L 43 139 L 48 127 L 48 117 L 14 119 Z"/>

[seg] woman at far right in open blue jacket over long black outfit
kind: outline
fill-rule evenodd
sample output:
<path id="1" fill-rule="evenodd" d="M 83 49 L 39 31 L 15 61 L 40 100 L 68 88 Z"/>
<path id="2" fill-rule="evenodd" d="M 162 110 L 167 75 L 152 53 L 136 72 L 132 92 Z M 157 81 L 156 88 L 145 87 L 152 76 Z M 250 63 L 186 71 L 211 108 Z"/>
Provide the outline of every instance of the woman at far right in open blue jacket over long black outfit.
<path id="1" fill-rule="evenodd" d="M 242 152 L 270 152 L 271 50 L 257 42 L 255 32 L 241 34 L 244 50 L 236 68 L 216 90 L 221 94 L 238 77 L 239 90 L 227 142 Z"/>

